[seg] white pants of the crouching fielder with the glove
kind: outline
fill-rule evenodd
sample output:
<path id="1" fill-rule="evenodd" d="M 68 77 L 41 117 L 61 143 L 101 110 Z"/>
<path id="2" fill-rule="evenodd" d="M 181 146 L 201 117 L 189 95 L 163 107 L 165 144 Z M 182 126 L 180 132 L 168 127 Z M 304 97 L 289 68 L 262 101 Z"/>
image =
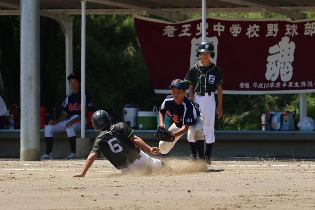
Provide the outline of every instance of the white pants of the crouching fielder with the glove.
<path id="1" fill-rule="evenodd" d="M 200 114 L 200 116 L 196 119 L 196 124 L 195 125 L 190 125 L 187 131 L 187 140 L 189 142 L 195 142 L 198 140 L 204 140 L 203 135 L 202 135 L 202 127 L 204 124 L 203 116 Z M 180 128 L 176 126 L 175 123 L 173 123 L 168 130 L 171 131 L 172 133 L 178 131 Z M 159 141 L 158 143 L 158 149 L 160 149 L 160 152 L 162 154 L 167 154 L 172 148 L 175 146 L 175 143 L 184 135 L 184 133 L 180 136 L 176 136 L 174 141 L 172 142 L 164 142 L 164 141 Z"/>

